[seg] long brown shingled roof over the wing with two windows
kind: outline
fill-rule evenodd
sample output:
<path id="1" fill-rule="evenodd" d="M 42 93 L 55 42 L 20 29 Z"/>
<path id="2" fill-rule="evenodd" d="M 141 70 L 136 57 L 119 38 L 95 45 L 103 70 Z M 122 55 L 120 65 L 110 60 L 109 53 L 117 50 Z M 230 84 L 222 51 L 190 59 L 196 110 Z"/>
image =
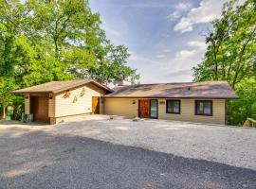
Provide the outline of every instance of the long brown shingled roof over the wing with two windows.
<path id="1" fill-rule="evenodd" d="M 105 97 L 237 98 L 227 81 L 158 83 L 119 86 Z"/>

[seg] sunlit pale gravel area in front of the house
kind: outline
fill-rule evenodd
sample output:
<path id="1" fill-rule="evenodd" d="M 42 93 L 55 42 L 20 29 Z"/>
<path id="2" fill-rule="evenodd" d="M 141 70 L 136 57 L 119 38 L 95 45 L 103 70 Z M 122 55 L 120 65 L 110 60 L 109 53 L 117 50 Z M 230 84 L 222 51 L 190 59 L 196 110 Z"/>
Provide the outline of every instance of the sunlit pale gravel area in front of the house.
<path id="1" fill-rule="evenodd" d="M 92 120 L 46 130 L 256 170 L 256 129 L 164 120 L 104 120 L 102 117 L 99 120 L 97 116 L 91 116 Z"/>

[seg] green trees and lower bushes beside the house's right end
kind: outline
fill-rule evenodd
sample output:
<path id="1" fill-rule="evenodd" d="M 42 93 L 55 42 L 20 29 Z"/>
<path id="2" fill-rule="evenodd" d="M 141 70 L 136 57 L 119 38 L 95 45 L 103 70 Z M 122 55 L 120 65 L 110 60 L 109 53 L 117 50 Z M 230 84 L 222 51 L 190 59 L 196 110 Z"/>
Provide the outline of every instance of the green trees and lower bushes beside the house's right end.
<path id="1" fill-rule="evenodd" d="M 256 119 L 256 2 L 237 6 L 230 1 L 212 26 L 205 59 L 193 68 L 194 80 L 228 80 L 239 95 L 229 102 L 229 124 L 241 125 L 247 117 Z"/>

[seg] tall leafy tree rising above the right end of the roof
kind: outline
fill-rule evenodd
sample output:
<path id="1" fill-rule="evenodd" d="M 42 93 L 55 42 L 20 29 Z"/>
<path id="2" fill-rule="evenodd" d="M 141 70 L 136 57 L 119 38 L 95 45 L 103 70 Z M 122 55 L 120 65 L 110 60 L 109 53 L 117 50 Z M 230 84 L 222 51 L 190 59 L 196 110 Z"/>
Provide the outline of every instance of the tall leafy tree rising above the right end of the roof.
<path id="1" fill-rule="evenodd" d="M 222 17 L 212 23 L 202 63 L 193 68 L 194 80 L 228 80 L 232 87 L 255 75 L 256 2 L 225 4 Z"/>

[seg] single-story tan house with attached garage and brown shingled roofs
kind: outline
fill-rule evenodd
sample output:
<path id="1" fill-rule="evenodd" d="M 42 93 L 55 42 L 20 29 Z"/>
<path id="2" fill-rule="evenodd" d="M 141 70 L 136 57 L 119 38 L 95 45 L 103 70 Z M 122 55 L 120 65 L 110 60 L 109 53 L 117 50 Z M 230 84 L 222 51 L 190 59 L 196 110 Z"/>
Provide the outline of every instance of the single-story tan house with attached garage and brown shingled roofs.
<path id="1" fill-rule="evenodd" d="M 14 91 L 25 96 L 34 121 L 59 123 L 84 113 L 227 123 L 227 101 L 237 98 L 227 81 L 122 85 L 110 89 L 95 80 L 52 81 Z"/>

